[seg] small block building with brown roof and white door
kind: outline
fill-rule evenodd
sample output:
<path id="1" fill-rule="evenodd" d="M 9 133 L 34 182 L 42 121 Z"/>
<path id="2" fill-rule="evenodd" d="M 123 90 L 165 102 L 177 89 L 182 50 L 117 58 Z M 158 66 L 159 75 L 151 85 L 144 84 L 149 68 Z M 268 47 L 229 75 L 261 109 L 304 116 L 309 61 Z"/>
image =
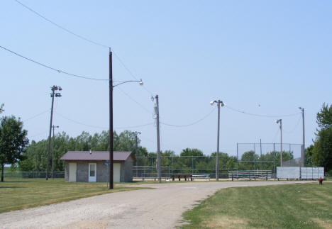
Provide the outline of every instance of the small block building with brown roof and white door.
<path id="1" fill-rule="evenodd" d="M 60 160 L 65 161 L 65 181 L 106 182 L 109 180 L 109 151 L 68 151 Z M 131 152 L 114 152 L 114 182 L 133 181 Z"/>

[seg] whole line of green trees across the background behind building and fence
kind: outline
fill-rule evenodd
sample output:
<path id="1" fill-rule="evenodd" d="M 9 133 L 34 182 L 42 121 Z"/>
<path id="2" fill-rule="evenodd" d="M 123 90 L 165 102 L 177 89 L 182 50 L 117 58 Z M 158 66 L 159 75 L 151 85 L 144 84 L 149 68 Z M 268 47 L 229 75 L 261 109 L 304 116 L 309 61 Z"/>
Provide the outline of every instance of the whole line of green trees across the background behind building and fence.
<path id="1" fill-rule="evenodd" d="M 0 113 L 4 111 L 4 105 L 0 106 Z M 316 139 L 313 145 L 306 148 L 306 166 L 324 167 L 326 172 L 332 169 L 332 105 L 323 104 L 321 111 L 317 113 L 316 123 L 319 128 L 316 130 Z M 29 144 L 26 138 L 27 130 L 23 129 L 23 122 L 14 116 L 0 118 L 0 164 L 1 180 L 3 180 L 4 164 L 11 164 L 11 169 L 21 171 L 45 171 L 47 164 L 48 140 L 36 142 L 32 140 Z M 135 133 L 124 130 L 121 133 L 114 132 L 114 150 L 131 151 L 138 156 L 138 165 L 155 167 L 155 152 L 140 146 L 136 150 Z M 55 171 L 63 171 L 64 163 L 60 157 L 67 151 L 107 151 L 109 150 L 109 131 L 101 133 L 89 133 L 83 131 L 76 138 L 70 137 L 67 133 L 57 133 L 52 138 L 52 150 L 54 150 Z M 179 157 L 180 156 L 180 157 Z M 182 172 L 192 172 L 193 169 L 199 172 L 209 172 L 204 169 L 215 168 L 216 152 L 211 155 L 204 155 L 199 149 L 186 148 L 175 155 L 172 150 L 161 152 L 161 166 L 172 167 L 172 169 L 184 169 Z M 248 151 L 237 158 L 228 155 L 226 152 L 219 153 L 219 164 L 221 169 L 269 169 L 280 165 L 280 152 L 267 152 L 265 155 L 258 155 L 254 151 Z M 145 158 L 143 158 L 145 157 Z M 282 152 L 284 161 L 294 158 L 293 152 Z M 51 157 L 50 157 L 51 162 Z M 199 170 L 201 169 L 201 170 Z"/>

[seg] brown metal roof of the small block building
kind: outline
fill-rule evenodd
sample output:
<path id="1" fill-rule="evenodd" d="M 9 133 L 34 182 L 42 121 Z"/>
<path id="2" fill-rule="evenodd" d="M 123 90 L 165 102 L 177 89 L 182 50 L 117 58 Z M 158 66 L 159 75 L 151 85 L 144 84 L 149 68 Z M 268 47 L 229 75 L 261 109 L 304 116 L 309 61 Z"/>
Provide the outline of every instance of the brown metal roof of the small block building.
<path id="1" fill-rule="evenodd" d="M 131 152 L 114 151 L 114 161 L 125 161 L 131 156 Z M 104 161 L 109 160 L 109 151 L 68 151 L 63 155 L 60 160 L 89 160 L 89 161 Z M 133 157 L 133 160 L 135 158 Z"/>

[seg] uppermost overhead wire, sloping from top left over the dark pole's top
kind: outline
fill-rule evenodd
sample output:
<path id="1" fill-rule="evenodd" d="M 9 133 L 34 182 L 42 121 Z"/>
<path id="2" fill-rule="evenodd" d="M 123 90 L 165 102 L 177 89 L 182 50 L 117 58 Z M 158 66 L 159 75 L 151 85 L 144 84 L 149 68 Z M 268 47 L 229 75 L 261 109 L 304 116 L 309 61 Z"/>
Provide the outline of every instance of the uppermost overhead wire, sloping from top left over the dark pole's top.
<path id="1" fill-rule="evenodd" d="M 89 43 L 92 43 L 94 45 L 98 45 L 98 46 L 101 46 L 101 47 L 104 47 L 104 48 L 108 48 L 109 50 L 111 49 L 111 47 L 109 45 L 104 45 L 104 44 L 101 44 L 101 43 L 98 43 L 94 40 L 90 40 L 88 38 L 85 38 L 84 36 L 82 35 L 79 35 L 77 33 L 74 33 L 72 32 L 71 30 L 68 30 L 67 28 L 63 27 L 63 26 L 60 26 L 58 23 L 55 23 L 54 21 L 51 21 L 50 19 L 46 18 L 45 16 L 43 16 L 42 14 L 38 13 L 37 11 L 31 9 L 30 7 L 26 6 L 25 4 L 21 3 L 21 1 L 18 1 L 18 0 L 14 0 L 16 1 L 18 4 L 20 4 L 21 6 L 23 6 L 24 8 L 28 9 L 29 11 L 35 13 L 35 15 L 39 16 L 40 18 L 43 18 L 45 21 L 48 21 L 49 23 L 52 23 L 52 25 L 54 26 L 57 26 L 57 28 L 60 28 L 62 30 L 64 30 L 65 32 L 67 33 L 70 33 L 74 36 L 76 36 L 77 38 L 80 38 L 82 40 L 85 40 Z M 114 50 L 112 50 L 112 52 L 114 52 Z M 133 72 L 131 72 L 131 69 L 129 69 L 125 63 L 123 62 L 123 60 L 121 60 L 121 58 L 116 54 L 116 52 L 114 52 L 114 55 L 116 56 L 116 58 L 118 58 L 119 62 L 121 63 L 121 65 L 128 71 L 129 74 L 131 74 L 131 77 L 133 77 L 134 79 L 138 80 L 137 77 L 135 77 L 135 75 L 133 74 Z M 99 80 L 103 80 L 103 79 L 99 79 Z M 108 79 L 107 79 L 108 80 Z M 148 91 L 149 94 L 153 95 L 153 93 L 151 91 L 149 91 L 146 86 L 143 85 L 143 88 L 145 89 L 145 91 Z"/>

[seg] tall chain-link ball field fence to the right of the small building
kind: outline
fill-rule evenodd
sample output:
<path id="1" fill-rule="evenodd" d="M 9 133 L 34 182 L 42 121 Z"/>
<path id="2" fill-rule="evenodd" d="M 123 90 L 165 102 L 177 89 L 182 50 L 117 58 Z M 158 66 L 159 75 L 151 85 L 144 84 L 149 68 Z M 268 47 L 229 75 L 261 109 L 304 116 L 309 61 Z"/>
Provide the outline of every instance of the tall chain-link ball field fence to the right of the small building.
<path id="1" fill-rule="evenodd" d="M 270 170 L 271 177 L 280 166 L 280 143 L 237 143 L 236 155 L 219 155 L 218 174 L 228 178 L 228 170 Z M 294 157 L 301 156 L 301 144 L 283 143 L 283 166 L 294 166 Z M 172 174 L 209 174 L 216 177 L 216 157 L 213 156 L 161 156 L 161 177 L 170 179 Z M 294 162 L 297 160 L 294 160 Z M 136 157 L 133 166 L 133 178 L 156 179 L 157 157 Z"/>

